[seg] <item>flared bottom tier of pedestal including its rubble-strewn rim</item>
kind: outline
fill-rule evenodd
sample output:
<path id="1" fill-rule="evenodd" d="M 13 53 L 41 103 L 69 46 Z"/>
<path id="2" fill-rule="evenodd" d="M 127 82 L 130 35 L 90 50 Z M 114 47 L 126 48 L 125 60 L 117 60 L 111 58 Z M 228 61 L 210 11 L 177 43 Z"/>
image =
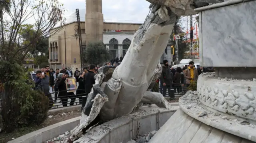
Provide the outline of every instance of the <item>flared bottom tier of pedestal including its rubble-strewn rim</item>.
<path id="1" fill-rule="evenodd" d="M 195 94 L 197 92 L 187 93 L 180 98 L 180 109 L 159 129 L 149 143 L 253 143 L 256 141 L 254 125 L 243 125 L 246 122 L 207 110 Z"/>

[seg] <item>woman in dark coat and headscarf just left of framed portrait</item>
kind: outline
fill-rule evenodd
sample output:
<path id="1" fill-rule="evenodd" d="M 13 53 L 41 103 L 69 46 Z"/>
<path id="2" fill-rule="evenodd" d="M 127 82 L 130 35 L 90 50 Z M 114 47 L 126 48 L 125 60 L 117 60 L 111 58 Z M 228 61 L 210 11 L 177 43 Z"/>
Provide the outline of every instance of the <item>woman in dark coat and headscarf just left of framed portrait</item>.
<path id="1" fill-rule="evenodd" d="M 66 87 L 66 83 L 65 80 L 68 77 L 68 74 L 63 74 L 60 73 L 58 74 L 57 77 L 57 85 L 58 85 L 58 90 L 59 90 L 59 94 L 58 94 L 58 98 L 60 98 L 62 100 L 62 106 L 68 106 L 68 94 L 67 94 L 67 87 Z"/>

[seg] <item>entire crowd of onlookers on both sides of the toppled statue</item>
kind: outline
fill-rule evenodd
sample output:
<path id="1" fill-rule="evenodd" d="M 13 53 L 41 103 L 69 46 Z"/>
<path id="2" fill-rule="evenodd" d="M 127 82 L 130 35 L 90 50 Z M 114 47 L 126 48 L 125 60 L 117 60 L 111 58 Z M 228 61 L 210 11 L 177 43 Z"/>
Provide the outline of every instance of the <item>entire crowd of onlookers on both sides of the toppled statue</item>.
<path id="1" fill-rule="evenodd" d="M 117 66 L 122 59 L 122 57 L 120 59 L 112 59 L 104 65 Z M 166 96 L 167 91 L 170 96 L 171 89 L 174 89 L 174 92 L 178 92 L 178 94 L 184 94 L 192 81 L 196 81 L 203 72 L 208 72 L 204 67 L 196 69 L 193 61 L 190 61 L 188 65 L 182 68 L 177 67 L 176 69 L 170 66 L 167 60 L 164 60 L 161 64 L 162 74 L 156 82 L 160 83 L 160 93 L 163 96 Z M 74 78 L 76 79 L 76 84 L 78 83 L 78 87 L 75 94 L 72 91 L 68 91 L 66 86 L 66 79 L 73 77 L 73 72 L 70 68 L 62 67 L 62 69 L 54 71 L 54 69 L 46 66 L 40 71 L 36 71 L 34 90 L 40 90 L 48 96 L 50 100 L 49 108 L 52 108 L 54 103 L 57 103 L 58 98 L 63 106 L 68 106 L 68 98 L 71 99 L 70 105 L 74 105 L 76 98 L 79 98 L 79 103 L 82 104 L 82 96 L 87 96 L 95 83 L 94 75 L 97 73 L 97 69 L 98 67 L 94 65 L 90 65 L 88 68 L 84 67 L 82 72 L 76 68 Z"/>

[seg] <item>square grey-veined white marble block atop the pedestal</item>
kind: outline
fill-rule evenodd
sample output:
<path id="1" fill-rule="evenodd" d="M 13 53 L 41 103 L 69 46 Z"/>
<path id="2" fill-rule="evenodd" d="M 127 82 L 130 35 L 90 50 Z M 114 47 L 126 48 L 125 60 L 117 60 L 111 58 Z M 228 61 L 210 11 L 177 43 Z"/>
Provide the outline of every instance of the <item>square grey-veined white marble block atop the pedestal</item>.
<path id="1" fill-rule="evenodd" d="M 256 67 L 255 0 L 227 1 L 195 11 L 200 22 L 200 65 Z"/>

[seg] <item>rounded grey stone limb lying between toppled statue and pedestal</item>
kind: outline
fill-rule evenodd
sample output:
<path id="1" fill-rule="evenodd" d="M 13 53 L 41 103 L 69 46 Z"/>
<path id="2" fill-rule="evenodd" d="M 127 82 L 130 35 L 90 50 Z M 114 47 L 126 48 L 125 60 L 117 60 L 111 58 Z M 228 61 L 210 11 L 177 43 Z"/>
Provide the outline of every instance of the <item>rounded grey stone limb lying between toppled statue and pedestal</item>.
<path id="1" fill-rule="evenodd" d="M 141 102 L 156 104 L 160 108 L 170 109 L 171 105 L 169 102 L 158 92 L 146 91 L 141 99 Z"/>

